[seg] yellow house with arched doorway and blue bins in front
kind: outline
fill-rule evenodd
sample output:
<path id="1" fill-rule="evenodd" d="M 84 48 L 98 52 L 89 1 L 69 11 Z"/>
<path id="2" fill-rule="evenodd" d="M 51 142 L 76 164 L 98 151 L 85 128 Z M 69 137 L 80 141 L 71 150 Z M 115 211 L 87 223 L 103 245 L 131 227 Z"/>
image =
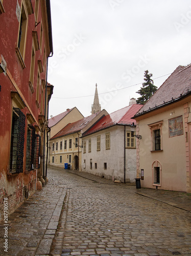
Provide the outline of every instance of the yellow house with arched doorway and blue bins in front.
<path id="1" fill-rule="evenodd" d="M 86 131 L 100 118 L 108 113 L 100 113 L 84 117 L 76 122 L 68 123 L 50 139 L 50 165 L 81 170 L 83 131 Z"/>

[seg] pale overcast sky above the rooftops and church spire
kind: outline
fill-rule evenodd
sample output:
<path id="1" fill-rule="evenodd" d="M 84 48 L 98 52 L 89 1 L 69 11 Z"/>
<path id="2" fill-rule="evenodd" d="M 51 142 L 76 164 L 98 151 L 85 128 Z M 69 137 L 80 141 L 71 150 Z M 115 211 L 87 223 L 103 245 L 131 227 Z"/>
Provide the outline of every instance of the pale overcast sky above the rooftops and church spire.
<path id="1" fill-rule="evenodd" d="M 91 115 L 96 83 L 112 113 L 139 97 L 145 70 L 160 87 L 191 62 L 189 0 L 51 0 L 51 13 L 49 117 L 74 106 Z"/>

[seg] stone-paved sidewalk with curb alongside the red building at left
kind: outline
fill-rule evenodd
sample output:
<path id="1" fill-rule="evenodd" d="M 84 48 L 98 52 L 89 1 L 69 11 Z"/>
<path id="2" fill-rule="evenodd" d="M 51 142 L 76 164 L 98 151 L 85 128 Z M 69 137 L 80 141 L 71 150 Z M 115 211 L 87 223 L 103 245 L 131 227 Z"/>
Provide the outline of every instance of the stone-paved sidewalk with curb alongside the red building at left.
<path id="1" fill-rule="evenodd" d="M 66 189 L 51 178 L 42 190 L 10 214 L 8 252 L 4 251 L 4 222 L 0 222 L 0 255 L 49 255 L 65 195 Z"/>

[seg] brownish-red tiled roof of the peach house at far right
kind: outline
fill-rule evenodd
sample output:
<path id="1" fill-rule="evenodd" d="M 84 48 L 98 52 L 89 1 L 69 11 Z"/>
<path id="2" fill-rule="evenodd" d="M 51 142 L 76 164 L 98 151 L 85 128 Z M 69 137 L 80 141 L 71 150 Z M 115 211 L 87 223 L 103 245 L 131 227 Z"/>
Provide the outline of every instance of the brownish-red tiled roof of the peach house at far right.
<path id="1" fill-rule="evenodd" d="M 191 64 L 179 66 L 136 113 L 136 116 L 174 103 L 191 92 Z"/>

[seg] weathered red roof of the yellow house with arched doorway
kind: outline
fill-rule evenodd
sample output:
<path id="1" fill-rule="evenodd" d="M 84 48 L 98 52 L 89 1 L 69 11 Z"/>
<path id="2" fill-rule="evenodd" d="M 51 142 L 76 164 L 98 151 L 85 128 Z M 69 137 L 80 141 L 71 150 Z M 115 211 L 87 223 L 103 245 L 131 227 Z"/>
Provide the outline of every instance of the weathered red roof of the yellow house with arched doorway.
<path id="1" fill-rule="evenodd" d="M 93 115 L 84 117 L 76 122 L 68 123 L 60 132 L 58 132 L 54 137 L 51 139 L 56 139 L 59 137 L 66 136 L 68 134 L 73 134 L 80 132 L 94 117 L 96 117 L 98 113 Z"/>

